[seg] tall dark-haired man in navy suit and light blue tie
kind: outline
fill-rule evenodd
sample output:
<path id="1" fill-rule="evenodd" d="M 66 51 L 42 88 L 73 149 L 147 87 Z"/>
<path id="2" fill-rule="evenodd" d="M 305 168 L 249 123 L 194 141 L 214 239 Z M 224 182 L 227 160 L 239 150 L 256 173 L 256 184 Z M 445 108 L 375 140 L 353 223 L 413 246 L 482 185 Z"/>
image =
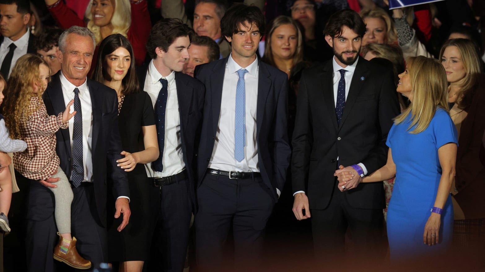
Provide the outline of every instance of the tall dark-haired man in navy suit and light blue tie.
<path id="1" fill-rule="evenodd" d="M 221 20 L 231 54 L 195 70 L 206 86 L 195 215 L 196 259 L 204 271 L 224 270 L 230 229 L 237 267 L 261 258 L 263 231 L 290 163 L 287 75 L 256 56 L 264 21 L 255 6 L 231 7 Z"/>

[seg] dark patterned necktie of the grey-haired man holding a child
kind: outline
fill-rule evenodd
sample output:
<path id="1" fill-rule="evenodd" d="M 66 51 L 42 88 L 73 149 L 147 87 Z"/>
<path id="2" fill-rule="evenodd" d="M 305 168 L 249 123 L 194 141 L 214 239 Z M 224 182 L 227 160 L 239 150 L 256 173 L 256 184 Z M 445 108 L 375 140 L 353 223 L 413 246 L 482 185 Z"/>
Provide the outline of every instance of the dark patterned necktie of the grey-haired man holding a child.
<path id="1" fill-rule="evenodd" d="M 84 180 L 84 164 L 82 163 L 82 111 L 79 100 L 79 89 L 74 88 L 74 126 L 72 128 L 72 174 L 71 180 L 74 187 L 81 185 Z"/>

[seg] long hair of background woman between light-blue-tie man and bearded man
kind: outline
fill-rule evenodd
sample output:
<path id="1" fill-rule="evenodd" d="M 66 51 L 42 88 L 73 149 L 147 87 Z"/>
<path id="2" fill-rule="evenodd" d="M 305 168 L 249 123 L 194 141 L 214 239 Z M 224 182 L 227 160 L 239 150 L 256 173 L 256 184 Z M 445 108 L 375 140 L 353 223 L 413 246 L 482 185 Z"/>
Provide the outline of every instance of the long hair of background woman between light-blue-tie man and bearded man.
<path id="1" fill-rule="evenodd" d="M 298 23 L 293 18 L 284 15 L 277 16 L 270 23 L 270 28 L 266 35 L 266 47 L 264 48 L 263 60 L 269 65 L 276 66 L 273 50 L 271 48 L 271 36 L 273 35 L 273 32 L 275 32 L 275 29 L 283 25 L 291 25 L 296 29 L 297 43 L 295 54 L 293 55 L 293 66 L 295 66 L 298 62 L 303 60 L 303 34 L 298 27 Z"/>

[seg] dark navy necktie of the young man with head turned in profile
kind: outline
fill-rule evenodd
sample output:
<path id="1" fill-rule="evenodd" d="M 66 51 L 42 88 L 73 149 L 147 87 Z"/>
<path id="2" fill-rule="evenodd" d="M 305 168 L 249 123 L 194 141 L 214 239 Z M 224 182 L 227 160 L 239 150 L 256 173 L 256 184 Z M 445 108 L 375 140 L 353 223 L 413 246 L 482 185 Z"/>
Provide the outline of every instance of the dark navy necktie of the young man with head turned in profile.
<path id="1" fill-rule="evenodd" d="M 157 138 L 158 138 L 158 149 L 160 150 L 160 155 L 153 162 L 153 169 L 157 172 L 162 172 L 163 164 L 163 147 L 165 144 L 165 110 L 167 109 L 167 97 L 168 97 L 168 81 L 161 78 L 160 83 L 162 83 L 162 89 L 158 93 L 157 101 L 155 102 L 155 117 L 157 118 L 155 125 L 157 127 Z"/>

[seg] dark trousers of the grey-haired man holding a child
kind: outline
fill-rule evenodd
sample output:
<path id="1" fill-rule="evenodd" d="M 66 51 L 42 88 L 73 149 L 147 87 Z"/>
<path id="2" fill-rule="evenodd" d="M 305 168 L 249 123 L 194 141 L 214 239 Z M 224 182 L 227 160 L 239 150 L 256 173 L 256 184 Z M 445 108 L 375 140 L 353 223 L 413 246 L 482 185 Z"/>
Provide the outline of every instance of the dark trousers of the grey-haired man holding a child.
<path id="1" fill-rule="evenodd" d="M 55 271 L 55 266 L 60 263 L 52 258 L 54 246 L 59 242 L 54 218 L 54 195 L 37 181 L 23 177 L 20 182 L 30 183 L 25 237 L 28 271 Z M 78 188 L 73 188 L 73 193 L 71 233 L 78 240 L 76 248 L 79 254 L 93 264 L 90 270 L 83 271 L 93 271 L 101 262 L 107 262 L 107 232 L 97 215 L 93 184 L 82 183 Z M 59 266 L 59 270 L 77 271 L 64 264 Z"/>

